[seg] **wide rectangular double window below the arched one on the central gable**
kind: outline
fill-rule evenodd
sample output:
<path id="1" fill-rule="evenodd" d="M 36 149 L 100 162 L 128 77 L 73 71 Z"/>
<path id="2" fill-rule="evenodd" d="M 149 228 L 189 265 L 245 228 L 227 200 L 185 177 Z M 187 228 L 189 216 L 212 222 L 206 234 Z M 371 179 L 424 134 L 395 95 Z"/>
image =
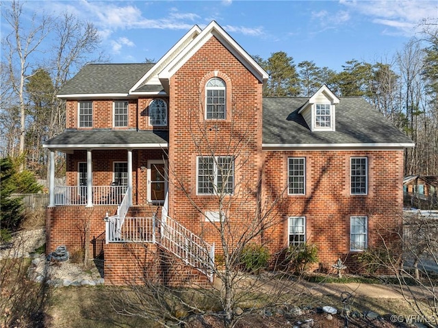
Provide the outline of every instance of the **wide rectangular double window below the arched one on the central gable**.
<path id="1" fill-rule="evenodd" d="M 234 158 L 232 156 L 199 156 L 196 160 L 198 194 L 232 194 Z"/>

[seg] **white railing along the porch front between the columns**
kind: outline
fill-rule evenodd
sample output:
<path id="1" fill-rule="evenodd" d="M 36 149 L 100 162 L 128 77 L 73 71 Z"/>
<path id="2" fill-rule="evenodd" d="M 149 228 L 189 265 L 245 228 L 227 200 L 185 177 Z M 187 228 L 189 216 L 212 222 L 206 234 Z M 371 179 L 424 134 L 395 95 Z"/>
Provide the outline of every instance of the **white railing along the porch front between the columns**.
<path id="1" fill-rule="evenodd" d="M 87 186 L 57 186 L 55 205 L 87 205 Z M 92 186 L 93 205 L 119 205 L 127 186 Z"/>

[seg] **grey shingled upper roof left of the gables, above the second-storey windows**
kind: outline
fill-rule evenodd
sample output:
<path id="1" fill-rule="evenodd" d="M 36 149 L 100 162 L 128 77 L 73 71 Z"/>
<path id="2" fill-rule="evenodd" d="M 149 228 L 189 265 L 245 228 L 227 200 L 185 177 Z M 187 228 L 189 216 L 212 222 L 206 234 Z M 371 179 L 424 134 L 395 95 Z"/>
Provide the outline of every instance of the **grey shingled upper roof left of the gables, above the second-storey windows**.
<path id="1" fill-rule="evenodd" d="M 125 97 L 154 64 L 88 64 L 58 92 L 58 97 L 120 94 Z M 162 90 L 162 86 L 160 86 Z"/>

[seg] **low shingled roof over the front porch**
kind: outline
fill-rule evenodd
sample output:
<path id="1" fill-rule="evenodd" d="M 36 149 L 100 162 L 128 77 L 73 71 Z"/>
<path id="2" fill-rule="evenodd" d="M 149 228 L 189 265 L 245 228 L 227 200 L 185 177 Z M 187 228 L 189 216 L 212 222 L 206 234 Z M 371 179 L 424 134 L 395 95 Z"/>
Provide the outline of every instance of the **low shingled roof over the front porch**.
<path id="1" fill-rule="evenodd" d="M 44 148 L 166 148 L 169 134 L 164 130 L 75 130 L 67 129 L 62 134 L 47 140 Z"/>

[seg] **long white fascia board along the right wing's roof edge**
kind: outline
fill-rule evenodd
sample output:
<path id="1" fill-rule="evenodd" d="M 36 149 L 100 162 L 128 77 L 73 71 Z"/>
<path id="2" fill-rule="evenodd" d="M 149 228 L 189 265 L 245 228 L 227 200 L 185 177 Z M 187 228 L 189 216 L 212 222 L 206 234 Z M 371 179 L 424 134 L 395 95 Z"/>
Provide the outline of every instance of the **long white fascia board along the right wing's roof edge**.
<path id="1" fill-rule="evenodd" d="M 263 150 L 279 150 L 287 151 L 291 149 L 318 149 L 318 150 L 339 150 L 339 149 L 381 149 L 381 150 L 399 150 L 404 148 L 414 147 L 412 142 L 400 142 L 400 143 L 382 143 L 382 144 L 369 144 L 369 143 L 357 143 L 357 144 L 262 144 Z"/>

